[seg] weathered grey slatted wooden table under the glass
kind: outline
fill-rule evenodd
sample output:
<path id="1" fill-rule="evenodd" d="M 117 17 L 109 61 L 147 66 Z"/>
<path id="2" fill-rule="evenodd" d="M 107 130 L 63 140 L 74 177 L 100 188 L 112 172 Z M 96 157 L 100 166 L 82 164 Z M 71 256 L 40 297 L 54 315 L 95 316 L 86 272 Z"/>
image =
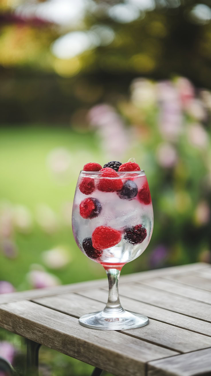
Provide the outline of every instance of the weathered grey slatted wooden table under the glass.
<path id="1" fill-rule="evenodd" d="M 0 326 L 28 339 L 28 370 L 38 365 L 43 344 L 98 367 L 96 375 L 99 368 L 119 376 L 211 375 L 209 264 L 121 276 L 123 307 L 150 318 L 138 329 L 80 326 L 80 315 L 104 308 L 107 284 L 103 279 L 0 296 Z"/>

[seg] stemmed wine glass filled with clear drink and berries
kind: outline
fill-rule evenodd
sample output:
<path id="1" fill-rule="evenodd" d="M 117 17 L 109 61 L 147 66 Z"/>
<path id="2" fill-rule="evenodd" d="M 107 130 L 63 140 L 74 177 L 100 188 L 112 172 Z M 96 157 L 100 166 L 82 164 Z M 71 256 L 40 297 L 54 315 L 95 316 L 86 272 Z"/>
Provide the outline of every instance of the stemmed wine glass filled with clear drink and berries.
<path id="1" fill-rule="evenodd" d="M 80 250 L 103 265 L 108 276 L 108 302 L 100 312 L 83 315 L 79 323 L 94 329 L 131 329 L 149 323 L 148 317 L 125 311 L 118 296 L 121 268 L 149 244 L 153 209 L 143 170 L 80 171 L 73 202 L 73 235 Z"/>

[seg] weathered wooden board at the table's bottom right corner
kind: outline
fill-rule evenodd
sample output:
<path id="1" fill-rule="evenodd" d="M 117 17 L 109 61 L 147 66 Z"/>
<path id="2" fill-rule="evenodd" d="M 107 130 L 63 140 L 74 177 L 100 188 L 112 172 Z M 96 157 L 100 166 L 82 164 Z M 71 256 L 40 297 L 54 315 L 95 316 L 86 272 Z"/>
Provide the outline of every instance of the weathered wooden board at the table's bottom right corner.
<path id="1" fill-rule="evenodd" d="M 211 349 L 155 360 L 147 365 L 147 376 L 210 376 Z"/>

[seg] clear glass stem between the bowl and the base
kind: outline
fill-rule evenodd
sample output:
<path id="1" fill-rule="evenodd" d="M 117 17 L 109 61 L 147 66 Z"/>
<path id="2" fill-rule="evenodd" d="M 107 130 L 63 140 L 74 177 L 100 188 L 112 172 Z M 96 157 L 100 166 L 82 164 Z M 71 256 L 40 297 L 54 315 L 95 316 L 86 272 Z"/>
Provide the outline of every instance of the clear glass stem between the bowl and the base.
<path id="1" fill-rule="evenodd" d="M 106 269 L 106 274 L 108 276 L 109 293 L 108 302 L 104 308 L 105 312 L 111 312 L 111 310 L 123 311 L 118 293 L 120 271 L 121 270 L 115 268 Z"/>

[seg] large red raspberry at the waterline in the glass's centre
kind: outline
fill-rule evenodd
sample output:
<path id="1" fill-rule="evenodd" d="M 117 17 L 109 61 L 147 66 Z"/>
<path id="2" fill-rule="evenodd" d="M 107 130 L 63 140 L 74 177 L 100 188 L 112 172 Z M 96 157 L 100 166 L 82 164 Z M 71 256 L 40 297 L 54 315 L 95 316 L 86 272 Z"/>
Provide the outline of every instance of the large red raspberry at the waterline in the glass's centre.
<path id="1" fill-rule="evenodd" d="M 115 177 L 115 179 L 111 179 Z M 117 179 L 118 178 L 118 179 Z M 97 188 L 102 192 L 119 191 L 123 186 L 123 182 L 114 170 L 103 171 L 102 178 L 99 179 Z"/>

